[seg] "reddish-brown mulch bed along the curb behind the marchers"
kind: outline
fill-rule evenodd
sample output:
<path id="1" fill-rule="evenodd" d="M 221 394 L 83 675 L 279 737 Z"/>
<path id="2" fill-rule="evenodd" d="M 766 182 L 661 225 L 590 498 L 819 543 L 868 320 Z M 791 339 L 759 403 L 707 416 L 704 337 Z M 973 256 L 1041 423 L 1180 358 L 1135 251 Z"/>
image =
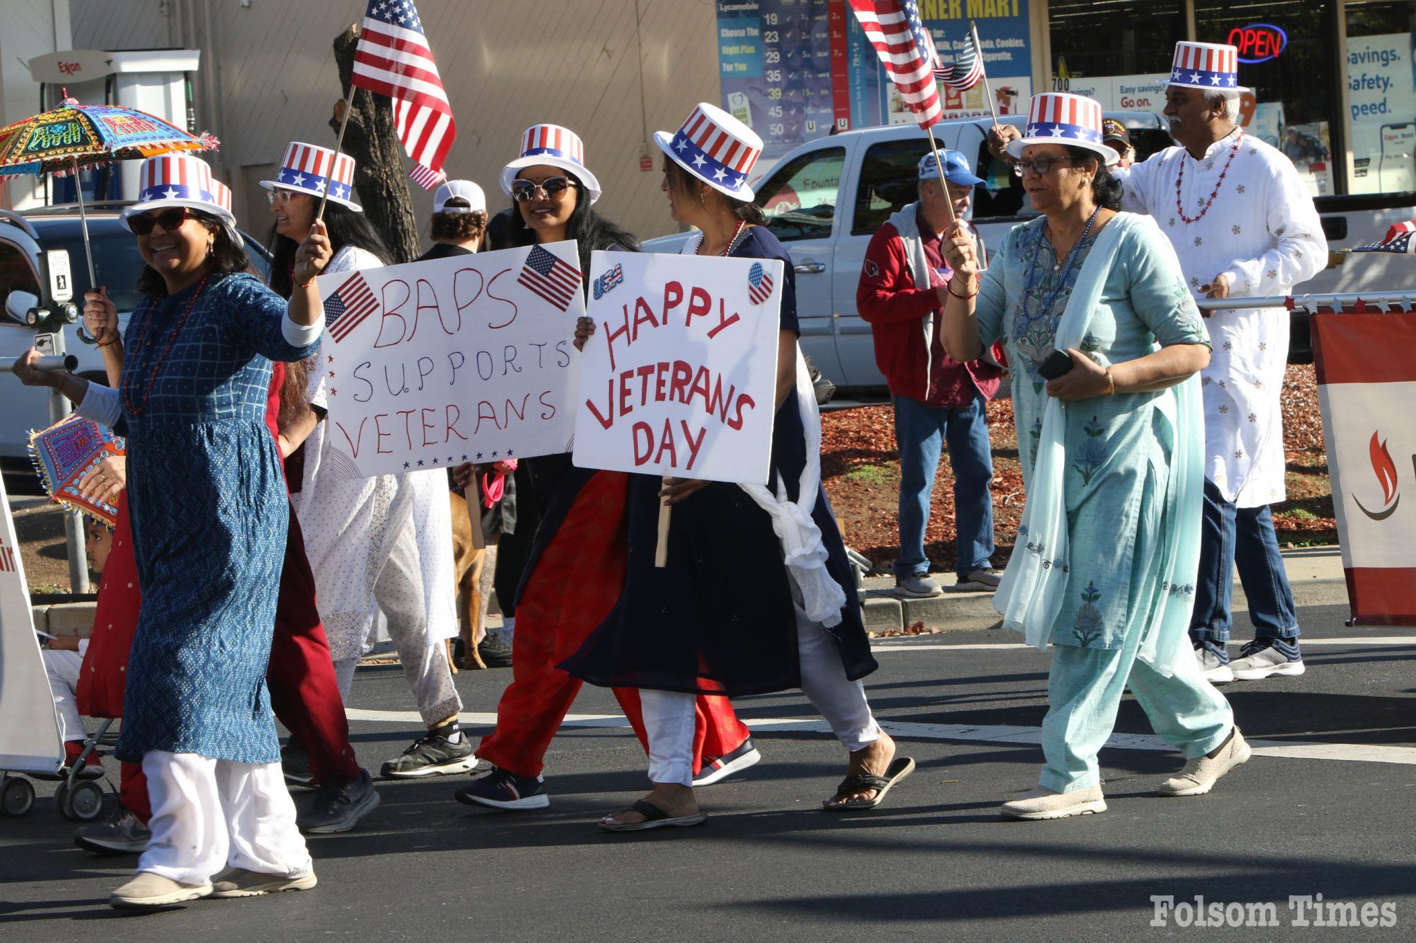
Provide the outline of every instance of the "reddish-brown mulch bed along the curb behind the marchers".
<path id="1" fill-rule="evenodd" d="M 1022 513 L 1022 471 L 1012 430 L 1012 402 L 988 404 L 993 440 L 994 534 L 1003 567 Z M 1335 543 L 1332 495 L 1323 452 L 1323 417 L 1311 366 L 1289 366 L 1283 385 L 1283 437 L 1289 459 L 1289 502 L 1274 509 L 1279 540 Z M 953 474 L 947 459 L 939 476 L 925 530 L 925 551 L 936 571 L 954 566 Z M 888 566 L 899 553 L 899 452 L 889 406 L 867 406 L 821 417 L 821 478 L 835 508 L 845 541 L 875 564 Z"/>

